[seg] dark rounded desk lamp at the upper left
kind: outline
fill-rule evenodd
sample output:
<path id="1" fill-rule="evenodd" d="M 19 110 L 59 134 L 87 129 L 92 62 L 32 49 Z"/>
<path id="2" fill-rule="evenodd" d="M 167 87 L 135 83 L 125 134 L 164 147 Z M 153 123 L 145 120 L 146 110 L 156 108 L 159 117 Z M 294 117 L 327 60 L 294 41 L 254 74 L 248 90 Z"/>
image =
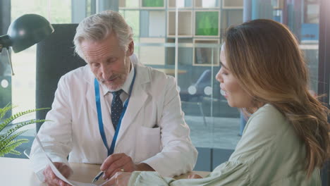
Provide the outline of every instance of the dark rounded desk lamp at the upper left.
<path id="1" fill-rule="evenodd" d="M 33 44 L 40 42 L 54 32 L 49 21 L 37 14 L 25 14 L 17 18 L 8 28 L 7 35 L 0 36 L 0 53 L 9 46 L 15 53 L 23 51 Z M 13 66 L 11 70 L 13 73 Z"/>

